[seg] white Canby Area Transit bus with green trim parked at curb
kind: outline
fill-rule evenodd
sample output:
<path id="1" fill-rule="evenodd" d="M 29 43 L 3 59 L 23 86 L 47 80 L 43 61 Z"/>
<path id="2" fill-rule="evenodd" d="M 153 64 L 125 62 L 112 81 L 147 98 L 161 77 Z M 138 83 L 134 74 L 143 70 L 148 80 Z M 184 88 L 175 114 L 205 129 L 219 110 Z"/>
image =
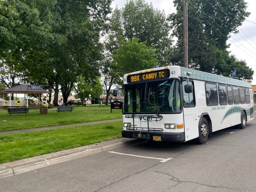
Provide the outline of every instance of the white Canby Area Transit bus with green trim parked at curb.
<path id="1" fill-rule="evenodd" d="M 254 119 L 249 81 L 166 66 L 125 74 L 123 88 L 124 138 L 204 144 Z"/>

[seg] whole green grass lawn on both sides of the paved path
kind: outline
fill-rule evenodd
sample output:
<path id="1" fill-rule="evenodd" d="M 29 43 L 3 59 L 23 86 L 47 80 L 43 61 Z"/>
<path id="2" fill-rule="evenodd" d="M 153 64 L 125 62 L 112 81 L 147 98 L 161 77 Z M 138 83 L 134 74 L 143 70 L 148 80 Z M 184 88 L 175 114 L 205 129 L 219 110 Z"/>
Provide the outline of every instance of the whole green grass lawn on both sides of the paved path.
<path id="1" fill-rule="evenodd" d="M 30 110 L 27 114 L 8 114 L 0 110 L 0 131 L 76 124 L 122 118 L 122 110 L 110 107 L 75 106 L 72 112 L 48 114 Z M 84 126 L 68 126 L 33 132 L 0 135 L 0 163 L 34 157 L 61 150 L 86 146 L 121 137 L 122 121 L 97 123 Z"/>

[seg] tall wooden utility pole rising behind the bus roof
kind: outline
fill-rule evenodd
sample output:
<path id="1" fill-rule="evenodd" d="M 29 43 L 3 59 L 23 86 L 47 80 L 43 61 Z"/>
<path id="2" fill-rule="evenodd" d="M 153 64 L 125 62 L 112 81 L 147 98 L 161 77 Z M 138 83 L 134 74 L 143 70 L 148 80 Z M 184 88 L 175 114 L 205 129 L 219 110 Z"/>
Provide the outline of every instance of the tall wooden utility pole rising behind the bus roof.
<path id="1" fill-rule="evenodd" d="M 186 0 L 183 0 L 183 60 L 184 67 L 188 68 L 188 12 Z"/>

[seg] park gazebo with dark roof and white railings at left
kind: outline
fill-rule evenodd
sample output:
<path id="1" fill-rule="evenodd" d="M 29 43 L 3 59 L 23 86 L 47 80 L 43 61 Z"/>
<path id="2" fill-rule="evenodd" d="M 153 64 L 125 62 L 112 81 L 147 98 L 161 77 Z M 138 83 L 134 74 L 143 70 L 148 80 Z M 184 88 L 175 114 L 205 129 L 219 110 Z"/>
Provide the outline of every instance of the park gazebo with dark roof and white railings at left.
<path id="1" fill-rule="evenodd" d="M 6 90 L 0 91 L 0 93 L 5 93 L 5 94 L 24 94 L 24 100 L 11 100 L 11 95 L 10 95 L 10 100 L 5 100 L 4 104 L 2 106 L 8 106 L 8 107 L 17 107 L 17 106 L 26 106 L 28 107 L 29 101 L 28 101 L 28 94 L 39 94 L 39 98 L 41 98 L 42 95 L 42 100 L 38 102 L 39 106 L 48 106 L 47 102 L 47 97 L 46 101 L 43 100 L 43 94 L 48 94 L 50 93 L 49 91 L 46 91 L 43 89 L 42 85 L 31 85 L 31 84 L 21 84 Z M 1 106 L 1 105 L 0 105 Z"/>

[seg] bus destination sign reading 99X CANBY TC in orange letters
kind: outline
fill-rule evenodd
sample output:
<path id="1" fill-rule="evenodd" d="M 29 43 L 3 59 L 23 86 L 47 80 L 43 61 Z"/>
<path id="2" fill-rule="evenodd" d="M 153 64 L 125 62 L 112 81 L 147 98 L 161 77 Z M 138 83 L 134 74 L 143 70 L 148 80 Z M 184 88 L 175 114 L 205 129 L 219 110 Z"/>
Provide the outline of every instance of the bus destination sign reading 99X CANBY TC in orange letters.
<path id="1" fill-rule="evenodd" d="M 145 72 L 140 74 L 128 75 L 127 82 L 135 83 L 135 82 L 168 78 L 169 76 L 170 76 L 170 71 L 168 69 L 164 69 L 164 70 L 157 70 L 157 71 L 150 71 L 150 72 Z"/>

